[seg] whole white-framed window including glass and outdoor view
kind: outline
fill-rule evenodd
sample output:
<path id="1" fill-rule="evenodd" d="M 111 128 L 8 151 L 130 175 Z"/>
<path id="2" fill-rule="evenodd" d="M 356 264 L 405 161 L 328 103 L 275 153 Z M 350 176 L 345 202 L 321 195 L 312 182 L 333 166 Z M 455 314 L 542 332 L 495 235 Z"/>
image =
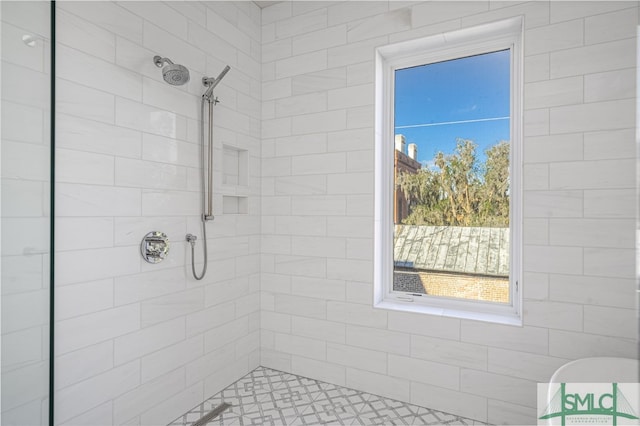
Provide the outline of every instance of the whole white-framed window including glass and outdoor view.
<path id="1" fill-rule="evenodd" d="M 376 307 L 520 324 L 522 19 L 376 52 Z"/>

